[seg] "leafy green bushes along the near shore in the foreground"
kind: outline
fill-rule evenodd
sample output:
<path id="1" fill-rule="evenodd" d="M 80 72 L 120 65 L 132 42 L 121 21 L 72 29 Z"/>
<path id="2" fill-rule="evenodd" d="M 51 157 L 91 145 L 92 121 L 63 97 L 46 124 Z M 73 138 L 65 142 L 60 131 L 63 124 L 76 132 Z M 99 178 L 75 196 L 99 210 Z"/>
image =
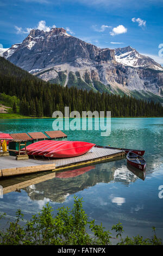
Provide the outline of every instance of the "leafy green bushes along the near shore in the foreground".
<path id="1" fill-rule="evenodd" d="M 0 245 L 111 245 L 114 237 L 110 231 L 104 231 L 102 224 L 96 225 L 95 220 L 87 221 L 82 202 L 82 198 L 75 196 L 73 209 L 63 206 L 55 217 L 52 216 L 52 207 L 46 204 L 24 227 L 19 224 L 23 214 L 17 210 L 16 221 L 10 222 L 7 230 L 0 231 Z M 121 223 L 113 225 L 112 230 L 116 231 L 117 245 L 162 245 L 154 227 L 151 239 L 143 239 L 139 235 L 122 239 Z"/>

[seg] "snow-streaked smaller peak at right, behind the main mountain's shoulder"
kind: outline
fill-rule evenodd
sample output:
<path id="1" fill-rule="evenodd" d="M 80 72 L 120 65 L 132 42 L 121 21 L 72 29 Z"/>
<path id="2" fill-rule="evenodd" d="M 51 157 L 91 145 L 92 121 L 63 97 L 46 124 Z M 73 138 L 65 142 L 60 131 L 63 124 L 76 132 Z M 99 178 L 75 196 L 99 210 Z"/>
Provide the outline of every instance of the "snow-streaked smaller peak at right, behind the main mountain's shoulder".
<path id="1" fill-rule="evenodd" d="M 156 63 L 152 58 L 144 56 L 137 52 L 131 46 L 115 49 L 115 59 L 118 63 L 134 68 L 149 68 L 163 71 L 163 67 Z"/>

